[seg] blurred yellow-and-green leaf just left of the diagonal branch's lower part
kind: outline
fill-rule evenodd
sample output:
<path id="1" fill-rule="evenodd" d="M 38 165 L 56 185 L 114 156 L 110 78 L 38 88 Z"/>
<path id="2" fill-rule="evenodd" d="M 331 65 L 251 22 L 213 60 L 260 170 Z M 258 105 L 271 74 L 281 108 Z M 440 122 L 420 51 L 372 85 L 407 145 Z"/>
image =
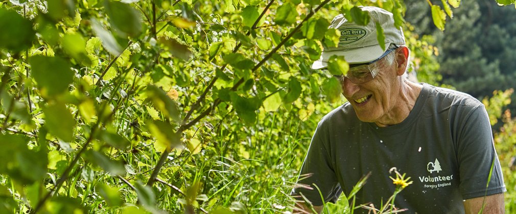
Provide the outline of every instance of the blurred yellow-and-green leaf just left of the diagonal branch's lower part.
<path id="1" fill-rule="evenodd" d="M 147 128 L 152 136 L 156 138 L 154 148 L 158 152 L 164 152 L 167 148 L 174 148 L 181 144 L 181 139 L 174 132 L 174 127 L 170 123 L 160 120 L 147 121 Z"/>

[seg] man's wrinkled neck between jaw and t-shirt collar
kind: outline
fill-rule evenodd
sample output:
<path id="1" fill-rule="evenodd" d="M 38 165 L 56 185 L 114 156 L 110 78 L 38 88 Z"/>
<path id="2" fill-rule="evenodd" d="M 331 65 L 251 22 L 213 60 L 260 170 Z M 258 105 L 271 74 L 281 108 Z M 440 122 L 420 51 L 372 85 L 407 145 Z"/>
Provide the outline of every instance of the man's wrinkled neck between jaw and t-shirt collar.
<path id="1" fill-rule="evenodd" d="M 399 91 L 393 94 L 389 113 L 375 122 L 378 127 L 388 127 L 402 122 L 414 108 L 423 86 L 404 78 L 400 80 L 400 84 Z"/>

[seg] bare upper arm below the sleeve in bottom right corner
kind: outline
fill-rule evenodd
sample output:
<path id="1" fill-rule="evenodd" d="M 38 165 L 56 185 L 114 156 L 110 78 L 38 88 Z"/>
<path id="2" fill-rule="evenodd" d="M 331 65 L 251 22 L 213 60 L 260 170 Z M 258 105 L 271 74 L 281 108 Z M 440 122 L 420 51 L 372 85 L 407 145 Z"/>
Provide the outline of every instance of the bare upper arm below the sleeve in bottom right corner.
<path id="1" fill-rule="evenodd" d="M 486 197 L 466 199 L 464 200 L 464 210 L 466 214 L 476 214 L 480 211 L 480 209 L 482 209 L 483 204 L 485 204 L 482 211 L 484 214 L 505 213 L 504 193 L 488 195 Z"/>

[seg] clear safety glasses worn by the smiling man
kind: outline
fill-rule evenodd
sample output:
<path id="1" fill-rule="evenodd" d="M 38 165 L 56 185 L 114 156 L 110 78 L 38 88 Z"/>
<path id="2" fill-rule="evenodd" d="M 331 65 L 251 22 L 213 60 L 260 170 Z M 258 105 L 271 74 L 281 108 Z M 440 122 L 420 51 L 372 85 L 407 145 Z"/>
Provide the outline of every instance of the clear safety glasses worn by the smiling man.
<path id="1" fill-rule="evenodd" d="M 383 53 L 381 57 L 379 57 L 376 60 L 361 63 L 361 64 L 350 64 L 348 74 L 346 76 L 344 75 L 334 75 L 336 78 L 339 78 L 341 81 L 344 81 L 346 78 L 349 79 L 354 84 L 362 84 L 366 83 L 368 81 L 373 80 L 376 75 L 380 72 L 379 64 L 376 63 L 383 59 L 385 56 L 387 56 L 390 52 L 393 50 L 396 50 L 396 48 L 387 49 Z"/>

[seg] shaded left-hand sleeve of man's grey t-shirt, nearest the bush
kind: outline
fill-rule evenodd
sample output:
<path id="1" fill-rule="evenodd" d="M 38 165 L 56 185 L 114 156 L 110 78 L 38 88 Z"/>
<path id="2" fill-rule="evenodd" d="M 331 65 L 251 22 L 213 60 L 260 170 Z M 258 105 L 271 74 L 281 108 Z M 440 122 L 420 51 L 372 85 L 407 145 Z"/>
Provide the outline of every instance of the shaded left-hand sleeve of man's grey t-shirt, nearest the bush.
<path id="1" fill-rule="evenodd" d="M 335 203 L 342 193 L 327 150 L 329 140 L 325 141 L 324 132 L 319 123 L 291 193 L 298 201 L 304 201 L 300 197 L 302 194 L 314 206 L 321 206 L 326 202 Z"/>

